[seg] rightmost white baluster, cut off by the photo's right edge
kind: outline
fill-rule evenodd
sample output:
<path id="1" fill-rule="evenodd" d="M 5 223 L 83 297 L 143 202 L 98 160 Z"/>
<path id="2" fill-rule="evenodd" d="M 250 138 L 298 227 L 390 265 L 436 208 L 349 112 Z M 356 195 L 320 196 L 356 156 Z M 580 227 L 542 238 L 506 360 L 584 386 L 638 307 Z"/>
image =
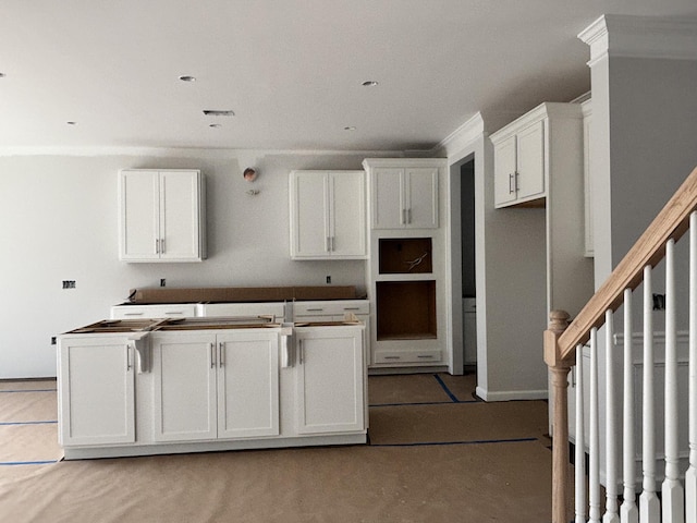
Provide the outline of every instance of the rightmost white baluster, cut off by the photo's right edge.
<path id="1" fill-rule="evenodd" d="M 685 515 L 697 523 L 697 212 L 689 216 L 689 467 Z"/>

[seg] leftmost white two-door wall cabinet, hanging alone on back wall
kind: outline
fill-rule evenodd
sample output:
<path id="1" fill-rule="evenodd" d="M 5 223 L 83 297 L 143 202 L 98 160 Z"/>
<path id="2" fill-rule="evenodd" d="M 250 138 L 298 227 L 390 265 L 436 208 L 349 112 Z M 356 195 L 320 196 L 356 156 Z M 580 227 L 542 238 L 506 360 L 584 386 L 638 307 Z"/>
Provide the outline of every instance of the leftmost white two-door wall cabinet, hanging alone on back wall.
<path id="1" fill-rule="evenodd" d="M 206 257 L 200 171 L 122 170 L 119 198 L 119 259 L 200 262 Z"/>

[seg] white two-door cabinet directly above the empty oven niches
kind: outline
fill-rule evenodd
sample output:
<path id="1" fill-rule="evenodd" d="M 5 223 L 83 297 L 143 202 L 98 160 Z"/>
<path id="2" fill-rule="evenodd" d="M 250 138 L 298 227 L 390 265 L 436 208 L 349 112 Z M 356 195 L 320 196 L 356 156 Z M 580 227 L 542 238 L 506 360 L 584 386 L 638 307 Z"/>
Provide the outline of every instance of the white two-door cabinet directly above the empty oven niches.
<path id="1" fill-rule="evenodd" d="M 438 229 L 439 159 L 366 159 L 372 229 Z"/>

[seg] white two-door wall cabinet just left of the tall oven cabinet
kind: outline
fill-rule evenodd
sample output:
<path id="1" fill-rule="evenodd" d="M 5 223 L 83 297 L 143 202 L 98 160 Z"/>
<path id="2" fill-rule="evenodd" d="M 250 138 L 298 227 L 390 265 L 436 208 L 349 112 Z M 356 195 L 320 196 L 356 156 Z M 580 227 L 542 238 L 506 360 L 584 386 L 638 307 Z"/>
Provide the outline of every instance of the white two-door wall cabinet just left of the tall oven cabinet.
<path id="1" fill-rule="evenodd" d="M 290 207 L 293 259 L 366 257 L 364 171 L 292 171 Z"/>

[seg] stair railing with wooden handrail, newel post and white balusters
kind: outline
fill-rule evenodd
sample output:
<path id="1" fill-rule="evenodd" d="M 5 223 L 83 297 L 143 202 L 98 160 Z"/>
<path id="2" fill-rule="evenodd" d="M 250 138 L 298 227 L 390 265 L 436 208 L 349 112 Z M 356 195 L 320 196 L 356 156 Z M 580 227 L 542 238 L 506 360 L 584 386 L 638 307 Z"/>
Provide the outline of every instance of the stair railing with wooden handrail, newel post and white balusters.
<path id="1" fill-rule="evenodd" d="M 553 523 L 697 523 L 697 168 L 577 317 L 550 314 L 545 361 Z"/>

